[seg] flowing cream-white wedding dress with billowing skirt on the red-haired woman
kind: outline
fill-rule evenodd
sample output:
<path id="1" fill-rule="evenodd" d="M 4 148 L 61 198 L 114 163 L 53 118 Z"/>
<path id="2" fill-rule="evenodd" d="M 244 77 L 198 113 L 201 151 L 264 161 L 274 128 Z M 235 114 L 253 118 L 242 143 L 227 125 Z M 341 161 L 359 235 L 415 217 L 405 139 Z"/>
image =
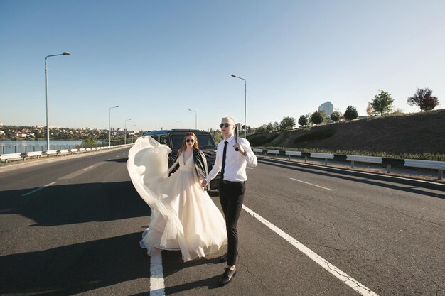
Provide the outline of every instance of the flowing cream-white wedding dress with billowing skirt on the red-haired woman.
<path id="1" fill-rule="evenodd" d="M 151 208 L 149 228 L 140 245 L 151 256 L 154 248 L 181 250 L 183 261 L 205 257 L 227 244 L 225 221 L 200 186 L 193 155 L 168 177 L 171 149 L 154 138 L 139 138 L 129 150 L 127 168 L 139 195 Z"/>

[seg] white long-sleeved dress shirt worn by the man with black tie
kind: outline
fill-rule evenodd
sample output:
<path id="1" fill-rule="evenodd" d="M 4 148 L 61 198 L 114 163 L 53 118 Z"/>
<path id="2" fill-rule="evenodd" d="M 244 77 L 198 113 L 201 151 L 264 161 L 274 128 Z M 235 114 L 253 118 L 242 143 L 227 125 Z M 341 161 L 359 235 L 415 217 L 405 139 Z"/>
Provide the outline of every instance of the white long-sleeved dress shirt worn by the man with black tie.
<path id="1" fill-rule="evenodd" d="M 240 146 L 247 152 L 247 155 L 244 156 L 240 151 L 236 151 L 235 148 L 233 148 L 235 145 L 235 136 L 231 136 L 227 138 L 227 140 L 218 143 L 215 165 L 213 165 L 205 181 L 210 182 L 223 168 L 224 141 L 229 142 L 227 143 L 227 151 L 225 154 L 224 180 L 232 182 L 247 180 L 246 165 L 249 164 L 252 167 L 256 167 L 258 164 L 257 156 L 254 155 L 250 148 L 249 141 L 245 138 L 238 138 L 238 143 L 240 143 Z"/>

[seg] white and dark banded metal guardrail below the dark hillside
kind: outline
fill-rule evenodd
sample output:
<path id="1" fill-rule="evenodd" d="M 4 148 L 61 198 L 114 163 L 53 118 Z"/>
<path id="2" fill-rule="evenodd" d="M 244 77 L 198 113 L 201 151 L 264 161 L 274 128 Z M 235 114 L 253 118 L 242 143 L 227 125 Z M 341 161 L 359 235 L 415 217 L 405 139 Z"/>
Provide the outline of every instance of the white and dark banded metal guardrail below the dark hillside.
<path id="1" fill-rule="evenodd" d="M 445 161 L 433 161 L 433 160 L 418 160 L 418 159 L 400 159 L 400 158 L 380 158 L 375 156 L 363 156 L 363 155 L 341 155 L 331 153 L 307 153 L 300 151 L 284 151 L 276 149 L 253 149 L 254 153 L 274 154 L 274 155 L 288 155 L 289 160 L 291 156 L 304 157 L 306 162 L 308 158 L 322 158 L 325 160 L 325 164 L 328 164 L 328 159 L 350 161 L 350 168 L 355 167 L 355 162 L 358 163 L 375 163 L 386 165 L 387 172 L 391 172 L 391 165 L 403 165 L 410 168 L 427 168 L 431 170 L 437 170 L 437 178 L 442 180 L 444 178 Z"/>

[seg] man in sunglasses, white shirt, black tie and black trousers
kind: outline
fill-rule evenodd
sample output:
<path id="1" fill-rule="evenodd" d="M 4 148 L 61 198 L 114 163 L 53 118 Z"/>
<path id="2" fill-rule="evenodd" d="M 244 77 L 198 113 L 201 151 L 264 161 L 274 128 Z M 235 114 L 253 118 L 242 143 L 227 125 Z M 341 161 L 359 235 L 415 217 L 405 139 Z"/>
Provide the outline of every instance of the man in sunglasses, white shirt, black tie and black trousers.
<path id="1" fill-rule="evenodd" d="M 257 156 L 250 148 L 250 143 L 245 138 L 239 138 L 235 143 L 233 131 L 235 120 L 232 117 L 224 117 L 220 124 L 224 141 L 218 144 L 216 150 L 215 165 L 203 180 L 201 186 L 205 187 L 218 172 L 221 172 L 220 202 L 225 216 L 227 229 L 227 253 L 221 257 L 221 261 L 227 260 L 227 268 L 220 278 L 220 285 L 227 285 L 237 273 L 235 266 L 238 250 L 237 223 L 240 217 L 242 201 L 246 191 L 246 165 L 257 166 Z M 235 150 L 235 148 L 238 148 Z"/>

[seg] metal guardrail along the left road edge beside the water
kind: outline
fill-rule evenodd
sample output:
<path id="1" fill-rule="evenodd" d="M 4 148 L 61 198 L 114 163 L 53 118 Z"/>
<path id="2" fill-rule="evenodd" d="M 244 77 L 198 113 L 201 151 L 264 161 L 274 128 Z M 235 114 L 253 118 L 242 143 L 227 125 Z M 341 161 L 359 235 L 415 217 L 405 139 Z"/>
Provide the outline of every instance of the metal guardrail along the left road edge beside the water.
<path id="1" fill-rule="evenodd" d="M 13 160 L 23 160 L 26 161 L 26 159 L 29 158 L 41 158 L 41 157 L 47 157 L 50 156 L 59 156 L 59 155 L 68 155 L 68 154 L 74 154 L 74 153 L 87 153 L 97 150 L 104 150 L 104 149 L 110 149 L 110 148 L 119 148 L 123 146 L 132 146 L 133 144 L 127 144 L 127 145 L 116 145 L 111 147 L 93 147 L 93 148 L 73 148 L 73 149 L 60 149 L 60 150 L 46 150 L 46 151 L 33 151 L 33 152 L 26 152 L 26 153 L 8 153 L 8 154 L 0 154 L 0 161 L 4 161 L 5 163 L 8 163 L 8 161 Z"/>

